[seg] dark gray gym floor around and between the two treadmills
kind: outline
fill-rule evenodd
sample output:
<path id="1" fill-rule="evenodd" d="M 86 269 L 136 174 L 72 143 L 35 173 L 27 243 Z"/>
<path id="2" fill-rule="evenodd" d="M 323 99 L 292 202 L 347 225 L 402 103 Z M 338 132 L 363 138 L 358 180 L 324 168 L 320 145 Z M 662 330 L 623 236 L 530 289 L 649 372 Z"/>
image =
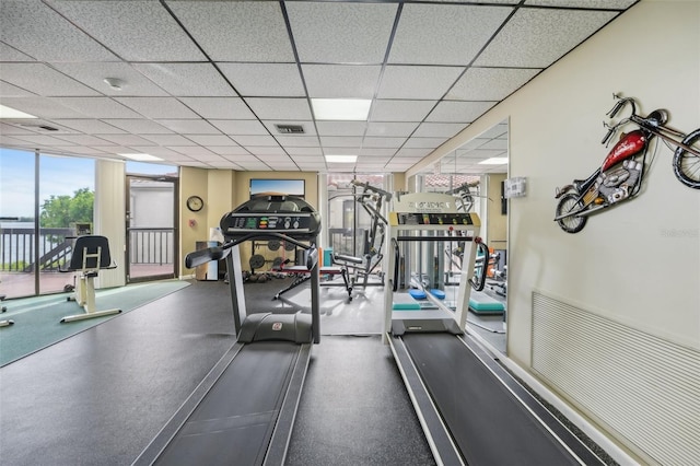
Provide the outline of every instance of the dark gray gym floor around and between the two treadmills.
<path id="1" fill-rule="evenodd" d="M 289 306 L 268 298 L 281 282 L 246 284 L 248 300 Z M 378 334 L 377 295 L 358 290 L 346 306 L 345 289 L 323 288 L 326 336 L 312 353 L 288 464 L 432 464 L 380 337 L 327 336 Z M 0 369 L 0 463 L 130 464 L 234 342 L 232 321 L 226 286 L 195 282 Z"/>

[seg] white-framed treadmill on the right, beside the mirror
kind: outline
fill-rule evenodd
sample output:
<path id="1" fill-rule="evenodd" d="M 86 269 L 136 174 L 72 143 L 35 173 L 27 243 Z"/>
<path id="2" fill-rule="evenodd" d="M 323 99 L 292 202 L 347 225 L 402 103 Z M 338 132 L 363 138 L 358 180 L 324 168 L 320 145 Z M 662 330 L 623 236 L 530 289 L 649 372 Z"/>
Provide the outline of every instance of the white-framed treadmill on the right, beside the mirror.
<path id="1" fill-rule="evenodd" d="M 387 242 L 393 251 L 386 254 L 386 270 L 394 277 L 385 289 L 383 336 L 436 463 L 605 464 L 467 334 L 470 290 L 480 286 L 478 278 L 467 279 L 480 242 L 478 215 L 458 212 L 450 195 L 430 193 L 395 198 L 394 210 Z M 442 251 L 448 241 L 471 246 L 468 259 L 465 252 L 456 300 L 448 303 L 434 289 L 418 290 L 429 305 L 415 305 L 417 290 L 406 293 L 399 287 L 417 283 L 409 278 L 411 259 L 421 257 L 420 245 L 438 243 L 427 249 Z M 401 270 L 406 277 L 399 277 Z"/>

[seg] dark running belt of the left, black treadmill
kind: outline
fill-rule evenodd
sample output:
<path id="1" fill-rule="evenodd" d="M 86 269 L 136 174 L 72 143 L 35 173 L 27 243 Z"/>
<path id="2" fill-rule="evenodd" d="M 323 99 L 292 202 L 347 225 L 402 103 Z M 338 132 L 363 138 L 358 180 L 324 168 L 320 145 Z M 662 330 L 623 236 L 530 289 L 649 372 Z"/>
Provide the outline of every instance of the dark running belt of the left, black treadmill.
<path id="1" fill-rule="evenodd" d="M 246 345 L 155 462 L 261 464 L 300 345 Z"/>

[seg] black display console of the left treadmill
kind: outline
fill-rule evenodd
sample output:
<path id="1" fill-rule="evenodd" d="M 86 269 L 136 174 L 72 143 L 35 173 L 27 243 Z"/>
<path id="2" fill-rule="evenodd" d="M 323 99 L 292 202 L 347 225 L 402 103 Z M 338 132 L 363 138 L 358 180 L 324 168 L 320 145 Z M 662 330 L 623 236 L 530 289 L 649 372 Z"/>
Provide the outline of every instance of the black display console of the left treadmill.
<path id="1" fill-rule="evenodd" d="M 282 233 L 302 240 L 318 234 L 320 215 L 301 198 L 258 196 L 223 215 L 220 226 L 229 240 L 254 232 Z"/>

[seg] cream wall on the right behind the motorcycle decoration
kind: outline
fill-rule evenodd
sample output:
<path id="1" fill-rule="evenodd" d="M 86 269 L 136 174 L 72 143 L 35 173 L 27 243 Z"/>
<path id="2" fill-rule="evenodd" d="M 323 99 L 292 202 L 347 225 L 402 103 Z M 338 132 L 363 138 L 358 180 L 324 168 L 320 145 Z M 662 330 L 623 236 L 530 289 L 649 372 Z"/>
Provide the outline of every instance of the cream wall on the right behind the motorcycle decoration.
<path id="1" fill-rule="evenodd" d="M 600 144 L 602 121 L 614 92 L 637 97 L 641 114 L 668 109 L 674 128 L 690 132 L 700 127 L 699 24 L 698 1 L 642 0 L 408 173 L 510 117 L 510 176 L 527 177 L 528 185 L 527 196 L 509 206 L 508 356 L 526 371 L 535 373 L 533 291 L 685 348 L 700 361 L 700 190 L 675 178 L 669 149 L 660 148 L 637 199 L 592 217 L 576 234 L 552 221 L 555 188 L 587 177 L 607 153 Z M 583 347 L 576 338 L 568 343 L 572 352 Z M 614 352 L 616 345 L 627 349 L 617 340 L 610 345 Z M 565 358 L 559 357 L 561 366 L 580 364 Z M 598 374 L 595 366 L 574 371 L 583 377 Z M 663 385 L 673 375 L 654 376 Z M 599 396 L 626 396 L 612 393 L 621 392 L 615 383 L 607 389 Z M 697 428 L 697 387 L 690 397 L 691 405 L 678 409 L 686 411 L 682 422 Z M 568 403 L 579 409 L 584 405 L 571 396 Z M 634 422 L 634 411 L 645 409 L 639 404 L 617 416 Z M 594 412 L 581 410 L 595 419 Z M 674 424 L 674 419 L 666 421 Z M 649 444 L 608 434 L 641 461 L 654 462 Z M 696 446 L 680 454 L 692 458 L 700 453 Z"/>

